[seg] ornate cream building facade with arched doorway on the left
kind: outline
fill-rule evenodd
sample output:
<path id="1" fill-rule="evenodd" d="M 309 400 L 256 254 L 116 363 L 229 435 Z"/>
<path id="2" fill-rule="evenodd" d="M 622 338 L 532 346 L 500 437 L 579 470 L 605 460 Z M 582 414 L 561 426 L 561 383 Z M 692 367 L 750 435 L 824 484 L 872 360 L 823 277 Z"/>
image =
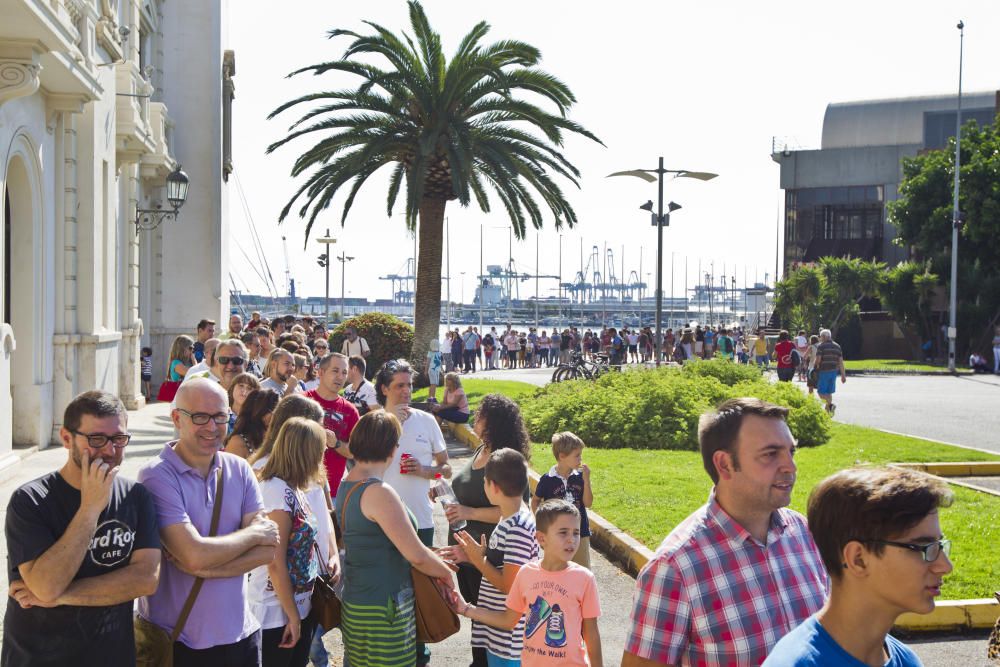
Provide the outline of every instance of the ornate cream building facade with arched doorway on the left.
<path id="1" fill-rule="evenodd" d="M 0 0 L 0 475 L 81 391 L 139 407 L 140 346 L 162 376 L 172 332 L 228 312 L 225 9 Z M 137 231 L 179 162 L 178 218 Z"/>

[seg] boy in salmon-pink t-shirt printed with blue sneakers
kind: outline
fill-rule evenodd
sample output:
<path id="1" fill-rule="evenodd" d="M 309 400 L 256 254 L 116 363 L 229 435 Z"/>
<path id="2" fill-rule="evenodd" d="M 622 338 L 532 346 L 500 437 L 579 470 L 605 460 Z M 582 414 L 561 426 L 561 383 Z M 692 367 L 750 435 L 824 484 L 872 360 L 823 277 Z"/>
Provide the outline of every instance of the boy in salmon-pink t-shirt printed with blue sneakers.
<path id="1" fill-rule="evenodd" d="M 565 500 L 547 500 L 538 508 L 535 522 L 535 535 L 545 556 L 541 562 L 526 563 L 518 570 L 507 594 L 506 609 L 474 607 L 457 591 L 452 593 L 452 608 L 496 628 L 510 629 L 524 623 L 524 667 L 603 667 L 597 580 L 590 570 L 571 560 L 580 543 L 580 513 Z M 479 599 L 482 601 L 481 591 Z"/>

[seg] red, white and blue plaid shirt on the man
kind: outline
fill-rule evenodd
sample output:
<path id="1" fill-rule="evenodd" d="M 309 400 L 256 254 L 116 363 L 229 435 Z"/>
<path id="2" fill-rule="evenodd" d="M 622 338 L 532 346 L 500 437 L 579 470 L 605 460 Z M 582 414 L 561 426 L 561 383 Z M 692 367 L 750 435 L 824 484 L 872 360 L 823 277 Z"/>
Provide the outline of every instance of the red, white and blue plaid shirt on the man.
<path id="1" fill-rule="evenodd" d="M 625 650 L 670 665 L 760 665 L 823 606 L 827 588 L 801 514 L 774 512 L 763 545 L 713 489 L 639 573 Z"/>

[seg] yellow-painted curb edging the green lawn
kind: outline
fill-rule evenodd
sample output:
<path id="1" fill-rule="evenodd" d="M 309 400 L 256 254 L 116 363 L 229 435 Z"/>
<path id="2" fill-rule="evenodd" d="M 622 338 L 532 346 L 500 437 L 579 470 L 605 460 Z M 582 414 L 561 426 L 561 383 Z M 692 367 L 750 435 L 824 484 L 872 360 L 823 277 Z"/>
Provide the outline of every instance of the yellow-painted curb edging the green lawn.
<path id="1" fill-rule="evenodd" d="M 479 438 L 467 424 L 447 424 L 445 427 L 456 440 L 470 449 L 481 444 Z M 900 464 L 897 464 L 900 465 Z M 978 469 L 981 465 L 996 466 L 1000 474 L 1000 463 L 959 463 L 959 464 L 903 464 L 913 467 L 933 468 L 935 466 L 955 466 L 958 470 Z M 962 467 L 964 466 L 964 468 Z M 930 472 L 930 471 L 928 471 Z M 969 474 L 969 473 L 957 473 Z M 990 473 L 983 473 L 990 474 Z M 529 484 L 534 491 L 539 475 L 529 468 Z M 655 554 L 631 535 L 603 518 L 596 512 L 587 510 L 590 519 L 590 541 L 613 562 L 632 577 L 638 575 Z M 957 630 L 980 630 L 992 628 L 1000 616 L 1000 604 L 991 598 L 974 600 L 942 600 L 929 614 L 903 614 L 896 619 L 895 628 L 911 633 L 940 633 Z"/>

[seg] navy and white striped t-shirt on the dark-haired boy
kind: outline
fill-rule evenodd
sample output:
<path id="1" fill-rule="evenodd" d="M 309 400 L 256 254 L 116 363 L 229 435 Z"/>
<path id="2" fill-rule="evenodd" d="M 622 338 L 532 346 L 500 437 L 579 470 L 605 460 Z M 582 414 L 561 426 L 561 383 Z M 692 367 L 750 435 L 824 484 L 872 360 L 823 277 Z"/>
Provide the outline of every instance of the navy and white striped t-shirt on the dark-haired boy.
<path id="1" fill-rule="evenodd" d="M 493 529 L 486 548 L 486 560 L 503 572 L 505 565 L 518 567 L 538 559 L 535 541 L 535 517 L 527 507 L 509 516 Z M 507 594 L 501 593 L 486 577 L 479 587 L 477 606 L 493 611 L 507 608 Z M 508 660 L 520 660 L 524 644 L 524 618 L 510 632 L 472 622 L 472 645 L 485 648 L 493 655 Z"/>

